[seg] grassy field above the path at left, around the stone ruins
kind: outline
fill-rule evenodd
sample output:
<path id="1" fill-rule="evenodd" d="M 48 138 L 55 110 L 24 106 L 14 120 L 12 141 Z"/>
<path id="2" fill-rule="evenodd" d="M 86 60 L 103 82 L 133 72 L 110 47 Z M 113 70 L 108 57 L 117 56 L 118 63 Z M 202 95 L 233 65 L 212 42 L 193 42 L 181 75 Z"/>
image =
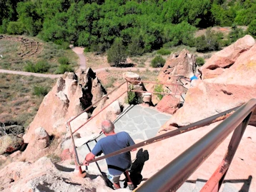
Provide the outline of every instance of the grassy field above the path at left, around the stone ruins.
<path id="1" fill-rule="evenodd" d="M 43 44 L 44 49 L 40 54 L 21 58 L 21 56 L 18 55 L 18 53 L 21 52 L 20 42 L 0 39 L 0 54 L 3 56 L 3 58 L 0 58 L 0 69 L 24 71 L 24 66 L 29 62 L 36 64 L 39 61 L 45 61 L 50 65 L 50 69 L 47 73 L 54 74 L 60 66 L 58 59 L 64 56 L 69 59 L 69 65 L 72 66 L 73 69 L 76 70 L 78 68 L 78 56 L 71 49 L 61 49 L 61 46 L 51 42 L 45 43 L 36 37 L 31 38 L 26 36 L 24 38 L 34 39 L 35 41 L 40 42 Z"/>

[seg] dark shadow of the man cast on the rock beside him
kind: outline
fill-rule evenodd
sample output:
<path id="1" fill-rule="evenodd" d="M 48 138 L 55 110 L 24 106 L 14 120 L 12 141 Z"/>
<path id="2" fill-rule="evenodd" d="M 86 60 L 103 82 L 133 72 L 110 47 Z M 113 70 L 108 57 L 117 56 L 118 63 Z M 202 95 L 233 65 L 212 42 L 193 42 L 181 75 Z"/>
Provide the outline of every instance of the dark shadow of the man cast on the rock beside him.
<path id="1" fill-rule="evenodd" d="M 136 160 L 132 163 L 132 168 L 130 172 L 130 178 L 132 179 L 132 183 L 135 187 L 142 182 L 142 168 L 144 166 L 145 161 L 149 160 L 149 152 L 147 150 L 143 151 L 143 148 L 140 148 L 137 155 Z"/>

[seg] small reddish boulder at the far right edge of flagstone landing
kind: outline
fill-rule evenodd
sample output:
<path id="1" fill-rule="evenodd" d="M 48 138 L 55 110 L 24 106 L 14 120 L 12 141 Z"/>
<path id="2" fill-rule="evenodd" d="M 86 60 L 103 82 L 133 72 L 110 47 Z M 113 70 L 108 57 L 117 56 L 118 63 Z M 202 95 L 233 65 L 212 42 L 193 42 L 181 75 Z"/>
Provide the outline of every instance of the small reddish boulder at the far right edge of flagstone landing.
<path id="1" fill-rule="evenodd" d="M 164 96 L 159 103 L 157 103 L 157 110 L 164 112 L 164 113 L 170 113 L 174 114 L 179 106 L 179 98 L 174 98 L 174 96 Z"/>

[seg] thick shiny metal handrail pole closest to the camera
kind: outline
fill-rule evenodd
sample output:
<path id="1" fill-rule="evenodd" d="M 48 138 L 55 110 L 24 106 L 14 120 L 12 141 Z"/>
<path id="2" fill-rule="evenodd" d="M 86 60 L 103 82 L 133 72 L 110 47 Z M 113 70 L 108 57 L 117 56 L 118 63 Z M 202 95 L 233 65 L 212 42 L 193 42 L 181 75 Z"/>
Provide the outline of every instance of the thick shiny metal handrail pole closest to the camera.
<path id="1" fill-rule="evenodd" d="M 136 191 L 177 191 L 179 186 L 189 178 L 189 176 L 200 166 L 215 148 L 227 138 L 227 136 L 240 123 L 247 118 L 256 106 L 256 99 L 251 99 L 243 106 L 237 109 L 235 113 L 225 121 L 216 126 L 206 136 L 197 143 L 189 147 L 181 155 L 175 158 L 167 166 L 164 166 L 159 172 L 149 178 Z"/>

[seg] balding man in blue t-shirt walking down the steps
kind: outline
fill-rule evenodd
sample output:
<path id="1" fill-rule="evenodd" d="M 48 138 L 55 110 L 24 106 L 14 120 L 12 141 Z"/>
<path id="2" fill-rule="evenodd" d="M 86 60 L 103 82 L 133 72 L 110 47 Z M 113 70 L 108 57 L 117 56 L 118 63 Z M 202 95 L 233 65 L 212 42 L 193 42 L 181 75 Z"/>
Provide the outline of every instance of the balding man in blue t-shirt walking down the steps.
<path id="1" fill-rule="evenodd" d="M 95 156 L 101 155 L 102 152 L 104 155 L 107 155 L 114 151 L 118 151 L 119 149 L 135 144 L 127 132 L 122 131 L 115 133 L 114 124 L 109 120 L 102 121 L 102 132 L 106 137 L 101 138 L 97 142 L 96 146 L 94 146 L 92 149 L 92 152 L 87 154 L 83 162 L 84 166 L 88 166 L 88 161 L 92 161 Z M 132 151 L 135 150 L 136 149 Z M 126 172 L 126 170 L 132 166 L 131 153 L 121 153 L 117 156 L 106 158 L 106 161 L 108 167 L 107 178 L 113 183 L 114 188 L 120 188 L 119 178 L 122 173 L 125 173 L 128 180 L 127 184 L 129 188 L 133 190 L 134 185 L 129 178 L 129 173 Z"/>

